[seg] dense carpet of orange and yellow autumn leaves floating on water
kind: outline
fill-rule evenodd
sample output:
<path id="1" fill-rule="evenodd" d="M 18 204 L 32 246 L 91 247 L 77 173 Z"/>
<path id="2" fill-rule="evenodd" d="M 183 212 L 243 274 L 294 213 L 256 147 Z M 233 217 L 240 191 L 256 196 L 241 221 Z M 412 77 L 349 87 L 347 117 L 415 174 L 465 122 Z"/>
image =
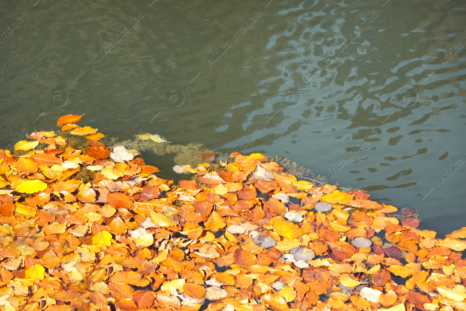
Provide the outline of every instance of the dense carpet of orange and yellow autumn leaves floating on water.
<path id="1" fill-rule="evenodd" d="M 175 186 L 79 119 L 57 125 L 86 150 L 42 131 L 0 151 L 1 310 L 466 310 L 466 227 L 435 238 L 258 153 Z"/>

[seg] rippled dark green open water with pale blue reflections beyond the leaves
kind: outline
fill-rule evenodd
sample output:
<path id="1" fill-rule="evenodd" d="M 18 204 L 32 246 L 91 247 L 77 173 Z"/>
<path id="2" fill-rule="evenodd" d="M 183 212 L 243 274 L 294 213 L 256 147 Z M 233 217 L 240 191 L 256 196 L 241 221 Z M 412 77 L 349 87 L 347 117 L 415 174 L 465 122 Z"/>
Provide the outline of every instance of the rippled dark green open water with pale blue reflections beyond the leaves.
<path id="1" fill-rule="evenodd" d="M 284 156 L 439 236 L 466 225 L 462 1 L 36 1 L 0 3 L 3 148 L 85 114 Z"/>

